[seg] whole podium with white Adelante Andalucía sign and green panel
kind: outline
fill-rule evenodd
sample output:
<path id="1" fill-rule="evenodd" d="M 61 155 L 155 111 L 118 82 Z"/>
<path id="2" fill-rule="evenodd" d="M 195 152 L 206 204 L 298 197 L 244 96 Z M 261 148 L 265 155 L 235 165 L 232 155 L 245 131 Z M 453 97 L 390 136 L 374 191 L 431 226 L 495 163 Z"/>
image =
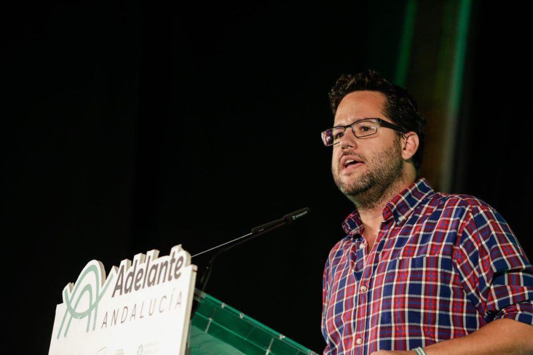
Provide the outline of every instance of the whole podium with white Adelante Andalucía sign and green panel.
<path id="1" fill-rule="evenodd" d="M 89 261 L 63 288 L 49 355 L 317 355 L 195 289 L 196 268 L 181 245 L 135 254 L 107 276 Z"/>

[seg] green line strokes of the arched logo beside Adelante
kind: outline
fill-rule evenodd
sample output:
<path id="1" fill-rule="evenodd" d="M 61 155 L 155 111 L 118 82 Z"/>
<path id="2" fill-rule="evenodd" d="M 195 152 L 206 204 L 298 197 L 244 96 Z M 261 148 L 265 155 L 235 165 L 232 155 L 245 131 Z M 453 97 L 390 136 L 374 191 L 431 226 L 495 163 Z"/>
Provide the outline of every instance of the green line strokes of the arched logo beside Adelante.
<path id="1" fill-rule="evenodd" d="M 88 275 L 94 275 L 94 284 L 91 283 L 84 283 L 84 279 Z M 67 326 L 65 327 L 63 337 L 67 336 L 68 329 L 70 327 L 70 322 L 72 321 L 72 318 L 75 319 L 83 319 L 87 317 L 87 329 L 85 332 L 89 331 L 89 328 L 91 326 L 91 320 L 93 322 L 93 330 L 96 327 L 96 316 L 98 315 L 98 303 L 100 302 L 100 299 L 102 298 L 103 294 L 106 293 L 107 287 L 109 286 L 113 275 L 109 275 L 109 278 L 106 280 L 106 285 L 103 286 L 102 291 L 100 291 L 100 284 L 101 284 L 101 276 L 100 268 L 95 265 L 94 263 L 91 265 L 87 265 L 85 267 L 85 271 L 78 277 L 78 280 L 76 281 L 76 286 L 70 293 L 68 292 L 68 286 L 63 289 L 63 298 L 64 303 L 67 306 L 67 309 L 65 311 L 65 314 L 63 316 L 63 320 L 61 321 L 61 326 L 59 327 L 59 332 L 57 335 L 57 338 L 59 339 L 59 336 L 61 335 L 61 330 L 63 329 L 63 326 L 65 325 L 65 321 L 67 320 L 67 316 L 70 315 Z M 90 277 L 91 278 L 91 277 Z M 92 278 L 91 278 L 92 279 Z M 78 292 L 78 289 L 81 285 L 84 285 L 81 291 Z M 78 310 L 79 302 L 82 300 L 82 298 L 86 295 L 88 297 L 88 306 L 86 309 Z M 74 303 L 74 305 L 72 305 Z"/>

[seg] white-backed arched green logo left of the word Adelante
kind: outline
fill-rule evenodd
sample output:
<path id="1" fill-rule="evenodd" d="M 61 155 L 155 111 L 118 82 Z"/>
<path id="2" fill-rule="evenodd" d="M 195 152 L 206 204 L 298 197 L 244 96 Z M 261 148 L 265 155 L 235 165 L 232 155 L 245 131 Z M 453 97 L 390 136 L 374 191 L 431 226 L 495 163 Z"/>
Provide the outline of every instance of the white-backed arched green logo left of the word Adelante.
<path id="1" fill-rule="evenodd" d="M 107 279 L 106 285 L 103 285 L 105 274 L 103 265 L 99 261 L 91 261 L 86 265 L 82 273 L 76 280 L 76 285 L 71 283 L 63 289 L 63 302 L 67 306 L 64 312 L 61 326 L 57 334 L 59 339 L 61 331 L 64 326 L 63 337 L 67 336 L 68 329 L 72 318 L 84 319 L 87 318 L 86 332 L 91 328 L 96 327 L 96 317 L 98 316 L 98 303 L 100 302 L 104 293 L 113 279 L 113 276 Z M 67 321 L 68 318 L 68 321 Z M 66 325 L 65 322 L 67 321 Z"/>

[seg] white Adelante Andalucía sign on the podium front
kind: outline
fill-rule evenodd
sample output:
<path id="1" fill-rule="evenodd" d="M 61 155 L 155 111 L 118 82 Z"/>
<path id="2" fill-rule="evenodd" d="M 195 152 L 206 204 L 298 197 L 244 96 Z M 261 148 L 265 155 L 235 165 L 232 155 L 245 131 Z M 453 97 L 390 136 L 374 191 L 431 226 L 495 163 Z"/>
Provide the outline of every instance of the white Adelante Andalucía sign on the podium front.
<path id="1" fill-rule="evenodd" d="M 88 262 L 63 289 L 49 354 L 183 355 L 196 265 L 181 245 L 158 254 L 123 260 L 107 278 L 101 262 Z"/>

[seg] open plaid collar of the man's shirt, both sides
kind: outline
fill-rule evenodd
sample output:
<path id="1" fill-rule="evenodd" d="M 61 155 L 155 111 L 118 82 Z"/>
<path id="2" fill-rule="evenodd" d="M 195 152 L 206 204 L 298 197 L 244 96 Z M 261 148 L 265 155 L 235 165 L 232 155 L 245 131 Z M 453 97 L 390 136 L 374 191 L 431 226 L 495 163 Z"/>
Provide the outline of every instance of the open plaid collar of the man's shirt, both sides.
<path id="1" fill-rule="evenodd" d="M 393 218 L 397 225 L 402 225 L 424 198 L 432 192 L 433 189 L 426 179 L 419 178 L 385 205 L 383 221 L 389 221 Z M 342 228 L 350 236 L 361 232 L 363 223 L 357 209 L 346 217 L 342 223 Z"/>

